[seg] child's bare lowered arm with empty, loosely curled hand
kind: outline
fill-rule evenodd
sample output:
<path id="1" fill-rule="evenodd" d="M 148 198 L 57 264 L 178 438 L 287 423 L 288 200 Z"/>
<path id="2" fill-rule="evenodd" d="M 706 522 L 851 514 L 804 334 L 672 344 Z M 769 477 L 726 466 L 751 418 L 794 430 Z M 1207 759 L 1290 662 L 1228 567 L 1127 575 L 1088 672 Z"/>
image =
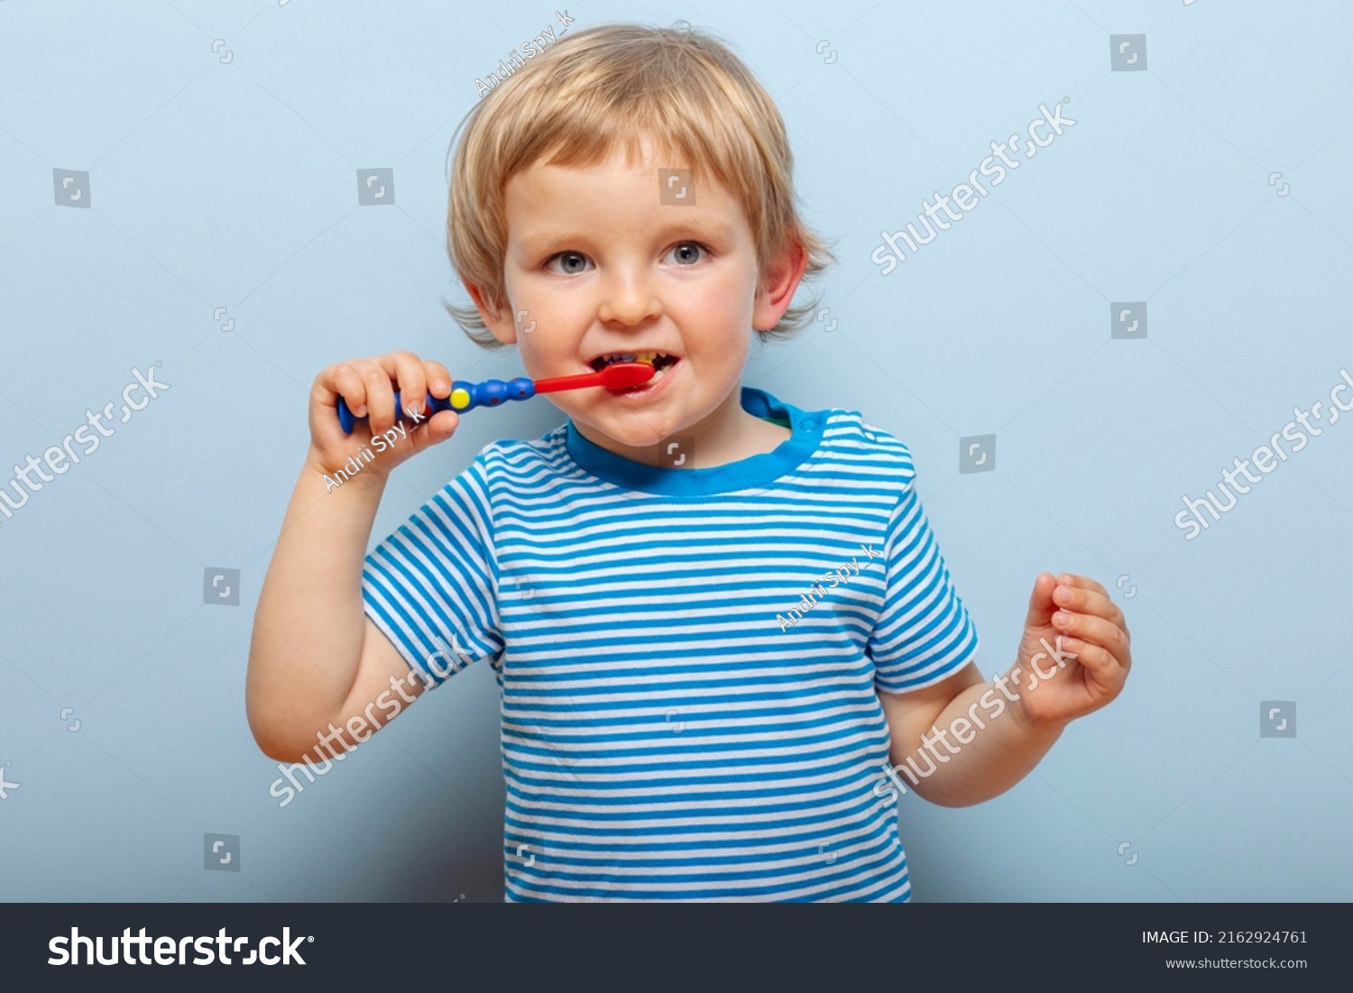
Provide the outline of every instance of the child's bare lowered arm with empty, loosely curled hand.
<path id="1" fill-rule="evenodd" d="M 1118 697 L 1128 668 L 1123 611 L 1104 587 L 1043 574 L 1005 675 L 982 682 L 970 663 L 934 686 L 878 694 L 897 777 L 942 806 L 990 800 L 1028 775 L 1072 720 Z"/>

